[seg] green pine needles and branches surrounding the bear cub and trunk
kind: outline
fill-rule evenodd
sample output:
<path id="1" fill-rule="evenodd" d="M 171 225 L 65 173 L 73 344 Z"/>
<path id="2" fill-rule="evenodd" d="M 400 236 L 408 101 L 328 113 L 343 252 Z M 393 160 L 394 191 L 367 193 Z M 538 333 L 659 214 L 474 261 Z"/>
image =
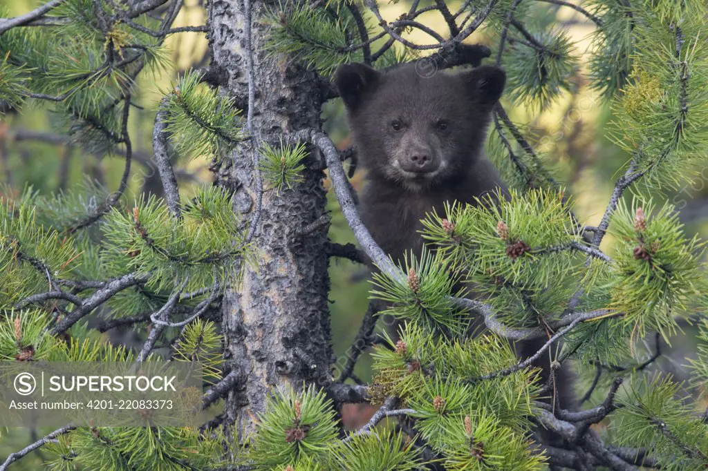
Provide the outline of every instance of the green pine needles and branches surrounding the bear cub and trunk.
<path id="1" fill-rule="evenodd" d="M 0 361 L 198 361 L 204 407 L 225 409 L 194 429 L 67 424 L 0 456 L 0 471 L 21 470 L 38 449 L 45 469 L 57 471 L 708 467 L 705 245 L 666 202 L 666 190 L 690 178 L 708 149 L 704 1 L 413 0 L 394 21 L 373 0 L 209 1 L 207 24 L 175 28 L 181 8 L 181 0 L 52 0 L 23 16 L 2 14 L 0 112 L 43 107 L 61 142 L 111 153 L 125 166 L 111 190 L 1 189 Z M 573 37 L 554 21 L 559 8 L 593 25 L 586 70 Z M 233 11 L 247 18 L 237 30 L 243 54 L 213 54 L 162 91 L 150 158 L 164 197 L 134 196 L 140 81 L 169 66 L 166 37 L 207 33 L 215 48 L 215 25 Z M 423 23 L 423 13 L 439 15 L 445 34 Z M 265 37 L 256 38 L 254 25 Z M 430 42 L 408 39 L 411 30 Z M 488 46 L 463 42 L 475 32 Z M 290 74 L 289 64 L 309 74 L 303 81 L 314 77 L 321 96 L 307 103 L 316 114 L 337 98 L 330 79 L 340 64 L 416 62 L 437 71 L 490 57 L 509 86 L 493 111 L 487 152 L 510 197 L 491 195 L 499 204 L 478 207 L 450 202 L 444 214 L 428 214 L 428 247 L 397 267 L 359 219 L 342 167 L 347 158 L 354 165 L 355 149 L 338 151 L 320 129 L 258 129 L 259 115 L 278 110 L 254 109 L 256 97 L 278 91 L 256 83 L 257 52 L 275 58 L 263 62 L 277 64 L 271 77 Z M 546 110 L 575 90 L 578 74 L 610 104 L 607 136 L 630 156 L 597 227 L 578 221 L 573 197 L 507 112 Z M 250 183 L 229 176 L 244 155 Z M 215 184 L 183 194 L 176 162 L 204 156 Z M 372 306 L 386 308 L 367 312 L 343 371 L 313 372 L 312 352 L 293 349 L 269 371 L 273 388 L 250 396 L 259 403 L 239 402 L 261 378 L 234 368 L 234 352 L 269 332 L 224 336 L 222 325 L 234 320 L 222 305 L 239 293 L 244 270 L 273 270 L 259 238 L 264 225 L 281 222 L 261 217 L 263 205 L 273 211 L 288 192 L 302 191 L 305 173 L 325 166 L 360 248 L 377 265 Z M 241 185 L 250 185 L 246 207 L 235 196 Z M 286 229 L 282 237 L 291 237 Z M 307 234 L 292 244 L 298 237 Z M 321 250 L 362 260 L 345 245 Z M 470 285 L 474 294 L 459 289 Z M 302 303 L 314 296 L 297 283 L 290 289 L 302 291 Z M 384 315 L 398 321 L 396 335 L 374 334 Z M 139 342 L 96 335 L 117 326 L 133 327 Z M 661 346 L 682 330 L 697 332 L 690 383 L 654 368 Z M 263 338 L 287 347 L 293 332 Z M 538 338 L 536 359 L 579 372 L 578 409 L 559 407 L 554 374 L 544 382 L 509 342 Z M 654 340 L 649 354 L 646 338 Z M 373 375 L 362 384 L 352 371 L 366 349 Z M 377 410 L 344 431 L 346 402 Z M 234 427 L 234 417 L 252 426 Z"/>

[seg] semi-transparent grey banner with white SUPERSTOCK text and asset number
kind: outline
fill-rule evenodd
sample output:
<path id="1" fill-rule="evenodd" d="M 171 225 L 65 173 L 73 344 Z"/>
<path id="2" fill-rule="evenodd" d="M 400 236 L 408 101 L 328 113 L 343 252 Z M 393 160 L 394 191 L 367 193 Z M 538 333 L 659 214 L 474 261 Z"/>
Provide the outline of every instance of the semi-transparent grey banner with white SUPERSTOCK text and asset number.
<path id="1" fill-rule="evenodd" d="M 201 405 L 198 363 L 0 362 L 0 426 L 200 426 Z"/>

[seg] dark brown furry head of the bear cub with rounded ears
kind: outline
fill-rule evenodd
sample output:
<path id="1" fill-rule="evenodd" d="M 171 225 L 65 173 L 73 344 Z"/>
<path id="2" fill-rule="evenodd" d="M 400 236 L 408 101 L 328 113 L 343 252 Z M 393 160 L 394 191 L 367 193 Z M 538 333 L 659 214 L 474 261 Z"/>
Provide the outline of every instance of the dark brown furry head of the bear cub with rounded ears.
<path id="1" fill-rule="evenodd" d="M 335 76 L 370 178 L 412 191 L 445 185 L 469 172 L 505 81 L 504 71 L 494 66 L 459 74 L 438 71 L 426 78 L 411 64 L 386 73 L 347 64 Z"/>

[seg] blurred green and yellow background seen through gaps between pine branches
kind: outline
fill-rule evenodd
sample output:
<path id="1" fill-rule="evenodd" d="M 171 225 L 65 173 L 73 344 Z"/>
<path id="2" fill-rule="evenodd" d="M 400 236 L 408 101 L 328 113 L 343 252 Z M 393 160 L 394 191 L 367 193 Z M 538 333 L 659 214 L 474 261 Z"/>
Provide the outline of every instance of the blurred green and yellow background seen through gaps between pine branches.
<path id="1" fill-rule="evenodd" d="M 397 3 L 379 2 L 384 18 L 393 21 L 409 9 L 409 1 Z M 421 6 L 430 3 L 421 2 Z M 459 1 L 447 1 L 457 7 Z M 16 16 L 29 11 L 37 2 L 29 0 L 0 0 L 0 8 Z M 581 64 L 590 47 L 588 34 L 594 25 L 571 8 L 551 4 L 537 4 L 534 10 L 539 21 L 557 28 L 567 28 L 576 41 L 575 53 Z M 425 13 L 418 18 L 422 23 L 445 35 L 445 23 L 435 12 Z M 187 0 L 174 26 L 200 25 L 205 21 L 204 2 Z M 526 20 L 525 20 L 526 21 Z M 372 22 L 373 23 L 373 22 Z M 406 33 L 416 42 L 427 42 L 422 33 Z M 496 48 L 496 38 L 484 31 L 475 33 L 470 42 L 481 42 Z M 132 199 L 141 192 L 161 194 L 159 176 L 152 165 L 152 127 L 160 91 L 169 87 L 171 81 L 190 67 L 207 63 L 207 42 L 203 33 L 181 33 L 166 41 L 166 48 L 172 57 L 173 66 L 156 76 L 142 76 L 133 99 L 142 107 L 131 114 L 130 133 L 135 158 L 138 165 L 133 170 L 130 191 L 126 198 Z M 575 90 L 566 93 L 548 110 L 538 112 L 523 107 L 512 107 L 506 103 L 513 120 L 525 124 L 525 132 L 531 136 L 532 144 L 542 154 L 556 176 L 571 194 L 576 214 L 581 221 L 592 226 L 599 222 L 605 209 L 618 170 L 628 156 L 605 137 L 605 127 L 612 120 L 609 105 L 602 103 L 597 93 L 590 90 L 583 70 L 575 78 Z M 343 117 L 341 100 L 327 103 L 323 110 L 326 130 L 341 147 L 349 144 L 346 121 Z M 62 123 L 51 112 L 50 105 L 28 103 L 19 114 L 6 115 L 0 122 L 0 183 L 6 183 L 16 191 L 31 185 L 42 194 L 50 194 L 68 189 L 76 189 L 87 180 L 94 180 L 106 187 L 115 188 L 120 180 L 123 161 L 120 156 L 98 155 L 74 146 L 68 146 L 62 137 Z M 183 156 L 179 162 L 178 180 L 181 191 L 190 193 L 190 188 L 211 181 L 208 171 L 208 156 Z M 706 178 L 708 169 L 681 187 L 678 192 L 668 195 L 670 201 L 683 209 L 682 219 L 687 224 L 687 232 L 706 235 L 708 225 L 708 190 Z M 353 185 L 360 187 L 362 170 L 358 170 Z M 331 238 L 336 242 L 353 242 L 346 221 L 339 213 L 336 201 L 331 198 L 332 226 Z M 603 247 L 611 244 L 605 238 Z M 330 268 L 332 292 L 330 299 L 332 335 L 336 354 L 341 364 L 346 361 L 346 352 L 353 342 L 360 320 L 367 306 L 369 289 L 365 269 L 346 260 L 332 260 Z M 685 342 L 674 342 L 674 351 L 663 360 L 662 367 L 673 370 L 681 378 L 684 357 L 692 351 Z M 365 355 L 358 363 L 355 374 L 362 380 L 370 378 L 370 362 Z M 685 376 L 685 375 L 684 375 Z M 352 424 L 355 425 L 355 424 Z M 10 431 L 0 438 L 0 458 L 11 450 L 26 446 L 36 438 L 36 431 Z M 17 465 L 13 470 L 35 470 L 41 468 L 41 456 L 35 453 Z"/>

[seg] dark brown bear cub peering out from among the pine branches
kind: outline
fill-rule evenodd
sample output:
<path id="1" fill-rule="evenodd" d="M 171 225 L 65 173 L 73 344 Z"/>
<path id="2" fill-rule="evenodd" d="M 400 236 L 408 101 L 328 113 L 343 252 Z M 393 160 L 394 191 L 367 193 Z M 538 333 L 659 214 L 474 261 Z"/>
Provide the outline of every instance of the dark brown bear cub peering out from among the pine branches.
<path id="1" fill-rule="evenodd" d="M 387 73 L 349 64 L 340 66 L 335 81 L 367 170 L 362 220 L 394 260 L 410 250 L 421 253 L 418 231 L 426 213 L 445 214 L 445 202 L 475 204 L 486 192 L 506 191 L 482 149 L 506 81 L 502 69 L 423 77 L 410 64 Z M 520 342 L 518 354 L 534 354 L 544 341 Z M 537 366 L 547 379 L 547 354 Z M 571 407 L 571 378 L 561 370 L 557 379 L 561 407 Z"/>

